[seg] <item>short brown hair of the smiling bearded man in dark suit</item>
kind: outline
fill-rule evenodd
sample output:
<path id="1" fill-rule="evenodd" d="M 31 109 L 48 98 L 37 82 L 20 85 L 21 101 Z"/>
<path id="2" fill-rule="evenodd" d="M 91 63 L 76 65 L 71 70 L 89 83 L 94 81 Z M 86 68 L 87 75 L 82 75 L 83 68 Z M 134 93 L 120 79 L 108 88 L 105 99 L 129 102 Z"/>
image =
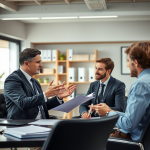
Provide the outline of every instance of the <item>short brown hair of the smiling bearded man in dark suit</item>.
<path id="1" fill-rule="evenodd" d="M 96 60 L 97 63 L 104 63 L 106 65 L 106 70 L 111 70 L 110 74 L 112 73 L 114 69 L 114 62 L 110 58 L 101 58 Z"/>

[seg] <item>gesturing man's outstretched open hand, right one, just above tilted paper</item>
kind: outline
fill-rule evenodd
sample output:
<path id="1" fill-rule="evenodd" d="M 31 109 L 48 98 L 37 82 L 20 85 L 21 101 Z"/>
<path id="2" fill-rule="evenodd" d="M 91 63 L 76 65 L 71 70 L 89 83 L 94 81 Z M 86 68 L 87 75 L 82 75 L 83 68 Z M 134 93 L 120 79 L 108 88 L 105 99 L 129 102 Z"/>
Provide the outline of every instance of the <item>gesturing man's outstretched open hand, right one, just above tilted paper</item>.
<path id="1" fill-rule="evenodd" d="M 63 84 L 62 84 L 63 88 L 64 88 L 64 84 L 65 84 L 65 82 L 63 82 Z M 62 89 L 61 93 L 58 94 L 58 98 L 63 99 L 65 97 L 71 95 L 74 92 L 75 88 L 76 88 L 76 85 L 71 84 L 68 87 Z"/>

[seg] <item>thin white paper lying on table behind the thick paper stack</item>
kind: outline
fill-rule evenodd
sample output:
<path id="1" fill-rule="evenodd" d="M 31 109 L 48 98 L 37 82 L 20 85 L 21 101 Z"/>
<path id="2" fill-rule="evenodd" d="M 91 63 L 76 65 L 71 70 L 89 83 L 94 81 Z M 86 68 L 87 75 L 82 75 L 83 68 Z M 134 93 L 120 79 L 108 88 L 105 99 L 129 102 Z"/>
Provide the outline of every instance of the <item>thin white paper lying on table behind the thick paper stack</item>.
<path id="1" fill-rule="evenodd" d="M 34 125 L 55 125 L 57 122 L 62 121 L 62 120 L 58 120 L 58 119 L 40 119 L 34 122 L 30 122 L 28 124 L 34 124 Z"/>

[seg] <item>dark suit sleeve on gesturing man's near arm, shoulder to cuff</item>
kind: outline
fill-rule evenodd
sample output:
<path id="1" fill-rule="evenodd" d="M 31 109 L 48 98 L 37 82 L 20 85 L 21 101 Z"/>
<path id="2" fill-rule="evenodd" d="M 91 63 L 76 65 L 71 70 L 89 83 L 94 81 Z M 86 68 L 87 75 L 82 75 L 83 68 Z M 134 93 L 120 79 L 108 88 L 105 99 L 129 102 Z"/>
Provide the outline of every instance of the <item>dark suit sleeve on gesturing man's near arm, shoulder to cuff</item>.
<path id="1" fill-rule="evenodd" d="M 26 90 L 31 92 L 30 89 Z M 21 110 L 28 110 L 45 103 L 43 92 L 31 97 L 27 96 L 26 92 L 27 91 L 23 89 L 23 83 L 19 81 L 17 77 L 9 77 L 6 79 L 4 95 L 8 97 L 13 103 L 15 103 Z M 11 105 L 11 102 L 6 101 L 6 105 Z"/>

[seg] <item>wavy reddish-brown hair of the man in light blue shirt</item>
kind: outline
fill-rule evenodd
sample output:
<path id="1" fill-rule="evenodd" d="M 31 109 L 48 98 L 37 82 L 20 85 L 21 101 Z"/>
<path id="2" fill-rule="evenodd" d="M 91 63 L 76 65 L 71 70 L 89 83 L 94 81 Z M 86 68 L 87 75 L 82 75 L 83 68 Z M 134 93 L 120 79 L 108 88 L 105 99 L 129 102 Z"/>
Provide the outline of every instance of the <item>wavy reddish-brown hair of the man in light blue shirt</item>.
<path id="1" fill-rule="evenodd" d="M 143 69 L 150 68 L 150 42 L 137 42 L 125 50 L 131 60 L 136 59 Z"/>

